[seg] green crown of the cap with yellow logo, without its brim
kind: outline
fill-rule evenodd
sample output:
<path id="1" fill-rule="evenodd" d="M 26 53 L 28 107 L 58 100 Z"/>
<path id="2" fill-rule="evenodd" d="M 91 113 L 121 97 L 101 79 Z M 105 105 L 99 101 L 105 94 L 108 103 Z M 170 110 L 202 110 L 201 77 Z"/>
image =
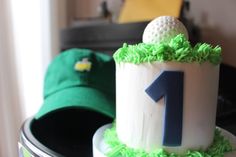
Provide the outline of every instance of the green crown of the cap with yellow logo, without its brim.
<path id="1" fill-rule="evenodd" d="M 112 57 L 88 49 L 69 49 L 48 67 L 44 98 L 65 88 L 86 86 L 115 94 L 115 63 Z"/>

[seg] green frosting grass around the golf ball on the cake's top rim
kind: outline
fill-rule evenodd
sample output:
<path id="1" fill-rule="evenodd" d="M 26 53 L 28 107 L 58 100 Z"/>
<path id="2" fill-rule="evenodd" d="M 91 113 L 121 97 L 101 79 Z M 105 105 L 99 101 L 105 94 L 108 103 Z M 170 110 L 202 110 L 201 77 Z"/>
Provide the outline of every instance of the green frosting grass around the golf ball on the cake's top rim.
<path id="1" fill-rule="evenodd" d="M 206 43 L 198 43 L 192 47 L 183 34 L 179 34 L 169 43 L 137 45 L 123 44 L 115 54 L 117 63 L 128 62 L 140 64 L 153 61 L 177 61 L 185 63 L 203 63 L 209 61 L 217 65 L 221 62 L 221 48 Z"/>

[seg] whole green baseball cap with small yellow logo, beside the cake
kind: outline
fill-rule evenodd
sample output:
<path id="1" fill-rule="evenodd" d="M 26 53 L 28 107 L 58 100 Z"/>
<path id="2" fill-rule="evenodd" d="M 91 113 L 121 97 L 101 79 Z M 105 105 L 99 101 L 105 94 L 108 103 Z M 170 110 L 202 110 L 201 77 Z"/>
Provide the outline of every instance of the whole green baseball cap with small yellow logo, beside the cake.
<path id="1" fill-rule="evenodd" d="M 49 65 L 44 103 L 35 115 L 78 107 L 115 116 L 115 63 L 111 56 L 88 49 L 69 49 Z"/>

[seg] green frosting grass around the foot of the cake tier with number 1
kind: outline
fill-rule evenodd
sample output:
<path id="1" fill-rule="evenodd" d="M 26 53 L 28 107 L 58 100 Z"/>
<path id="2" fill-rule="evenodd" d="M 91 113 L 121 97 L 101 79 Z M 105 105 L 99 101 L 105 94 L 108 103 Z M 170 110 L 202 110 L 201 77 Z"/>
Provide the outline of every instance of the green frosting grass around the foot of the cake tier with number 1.
<path id="1" fill-rule="evenodd" d="M 118 139 L 115 124 L 105 131 L 104 139 L 111 148 L 106 154 L 108 157 L 224 157 L 225 153 L 234 151 L 218 129 L 215 130 L 213 144 L 207 150 L 188 150 L 184 155 L 168 153 L 164 149 L 147 153 L 144 150 L 129 148 Z"/>

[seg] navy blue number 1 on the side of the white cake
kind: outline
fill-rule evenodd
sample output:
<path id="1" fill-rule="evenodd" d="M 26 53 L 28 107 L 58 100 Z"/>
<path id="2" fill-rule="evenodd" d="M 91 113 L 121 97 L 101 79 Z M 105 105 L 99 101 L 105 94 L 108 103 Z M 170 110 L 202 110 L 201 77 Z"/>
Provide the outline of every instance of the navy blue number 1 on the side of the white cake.
<path id="1" fill-rule="evenodd" d="M 183 72 L 164 71 L 145 90 L 155 102 L 158 102 L 164 97 L 164 146 L 181 146 L 183 127 L 183 89 Z"/>

